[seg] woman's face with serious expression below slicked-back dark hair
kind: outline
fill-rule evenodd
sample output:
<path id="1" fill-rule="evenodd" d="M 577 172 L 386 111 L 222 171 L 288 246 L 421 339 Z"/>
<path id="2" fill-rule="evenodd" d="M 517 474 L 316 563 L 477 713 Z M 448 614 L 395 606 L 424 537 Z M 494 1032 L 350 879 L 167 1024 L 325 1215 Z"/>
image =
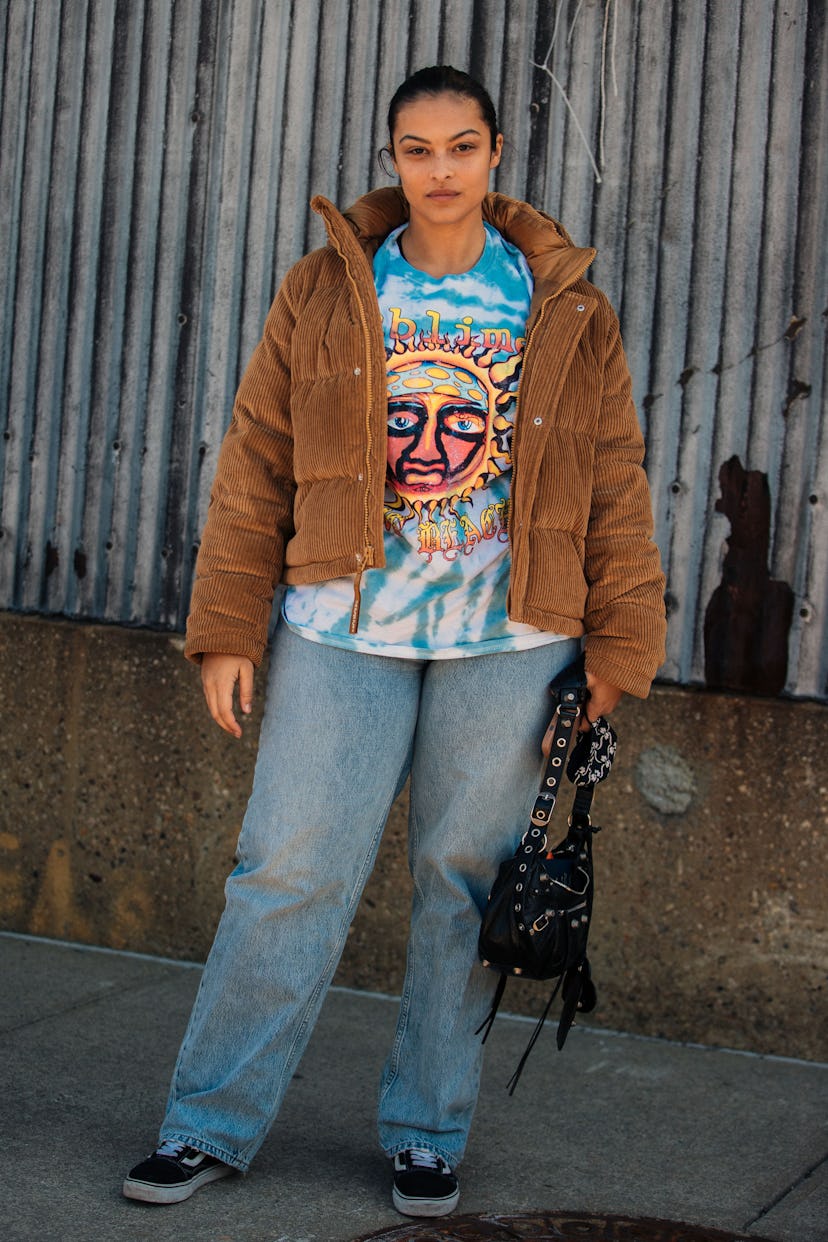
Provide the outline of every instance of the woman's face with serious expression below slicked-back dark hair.
<path id="1" fill-rule="evenodd" d="M 422 96 L 400 108 L 391 154 L 411 222 L 458 225 L 479 219 L 502 148 L 503 134 L 493 148 L 479 107 L 466 96 Z"/>

